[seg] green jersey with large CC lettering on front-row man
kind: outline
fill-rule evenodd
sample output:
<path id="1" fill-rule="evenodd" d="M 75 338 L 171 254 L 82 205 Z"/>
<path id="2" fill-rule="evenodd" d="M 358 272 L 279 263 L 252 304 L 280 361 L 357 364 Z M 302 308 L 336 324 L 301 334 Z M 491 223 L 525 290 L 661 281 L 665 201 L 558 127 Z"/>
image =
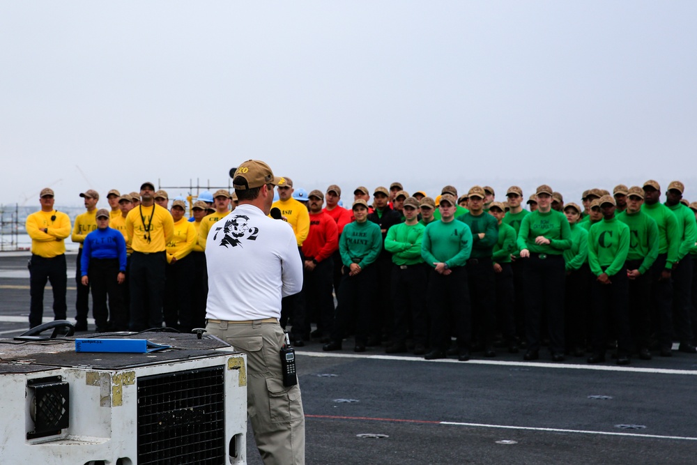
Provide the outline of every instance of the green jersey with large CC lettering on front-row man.
<path id="1" fill-rule="evenodd" d="M 617 218 L 592 225 L 588 233 L 588 265 L 596 276 L 616 275 L 629 253 L 629 226 Z"/>

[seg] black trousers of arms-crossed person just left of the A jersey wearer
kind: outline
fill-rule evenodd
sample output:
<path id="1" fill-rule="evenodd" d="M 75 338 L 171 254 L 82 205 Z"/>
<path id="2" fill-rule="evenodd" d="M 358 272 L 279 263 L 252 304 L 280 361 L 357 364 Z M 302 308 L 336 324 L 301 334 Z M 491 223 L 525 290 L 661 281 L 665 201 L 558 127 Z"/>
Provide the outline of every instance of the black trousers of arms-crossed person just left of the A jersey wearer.
<path id="1" fill-rule="evenodd" d="M 426 346 L 427 304 L 424 284 L 429 268 L 426 264 L 395 265 L 392 267 L 392 303 L 395 323 L 392 342 L 404 344 L 411 323 L 414 344 Z"/>

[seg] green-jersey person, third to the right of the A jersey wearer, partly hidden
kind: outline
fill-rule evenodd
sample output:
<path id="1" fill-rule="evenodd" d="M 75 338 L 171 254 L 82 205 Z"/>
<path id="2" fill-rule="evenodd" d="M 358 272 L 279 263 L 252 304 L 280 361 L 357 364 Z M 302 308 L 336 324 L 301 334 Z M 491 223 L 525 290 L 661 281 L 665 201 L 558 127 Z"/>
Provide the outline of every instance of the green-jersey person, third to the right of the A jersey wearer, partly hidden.
<path id="1" fill-rule="evenodd" d="M 513 268 L 511 254 L 516 252 L 516 230 L 503 222 L 505 206 L 493 201 L 489 205 L 489 215 L 496 218 L 498 240 L 493 245 L 493 274 L 495 278 L 494 296 L 496 298 L 496 321 L 498 329 L 508 346 L 509 353 L 518 353 L 514 313 Z"/>

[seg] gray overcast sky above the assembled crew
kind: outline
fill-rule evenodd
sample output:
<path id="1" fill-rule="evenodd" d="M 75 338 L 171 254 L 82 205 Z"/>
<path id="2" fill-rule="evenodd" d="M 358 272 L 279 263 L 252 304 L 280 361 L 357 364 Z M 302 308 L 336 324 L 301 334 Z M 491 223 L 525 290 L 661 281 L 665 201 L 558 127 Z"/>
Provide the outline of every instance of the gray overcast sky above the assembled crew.
<path id="1" fill-rule="evenodd" d="M 695 1 L 3 1 L 0 41 L 4 204 L 227 185 L 249 158 L 345 201 L 648 178 L 697 200 Z"/>

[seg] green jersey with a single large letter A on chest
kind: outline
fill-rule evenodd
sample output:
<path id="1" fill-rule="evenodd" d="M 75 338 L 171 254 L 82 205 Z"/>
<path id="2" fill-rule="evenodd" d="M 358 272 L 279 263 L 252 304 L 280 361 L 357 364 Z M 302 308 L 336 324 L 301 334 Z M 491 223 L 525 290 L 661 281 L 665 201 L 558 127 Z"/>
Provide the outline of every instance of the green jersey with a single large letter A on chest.
<path id="1" fill-rule="evenodd" d="M 464 222 L 429 223 L 421 241 L 421 255 L 432 268 L 443 262 L 449 268 L 465 266 L 472 252 L 472 232 Z"/>

